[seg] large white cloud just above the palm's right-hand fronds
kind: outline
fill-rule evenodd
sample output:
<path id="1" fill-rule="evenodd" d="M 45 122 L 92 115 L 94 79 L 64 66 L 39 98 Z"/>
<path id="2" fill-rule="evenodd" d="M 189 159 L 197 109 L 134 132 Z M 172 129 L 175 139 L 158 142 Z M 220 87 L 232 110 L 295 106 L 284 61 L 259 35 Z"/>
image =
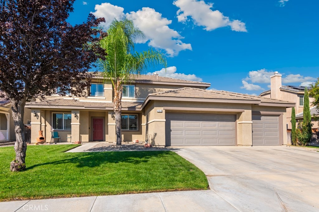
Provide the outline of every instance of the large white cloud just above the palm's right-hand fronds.
<path id="1" fill-rule="evenodd" d="M 191 44 L 185 44 L 180 39 L 183 37 L 175 30 L 168 27 L 171 20 L 162 17 L 162 14 L 149 7 L 143 7 L 137 12 L 126 13 L 128 19 L 145 33 L 148 45 L 164 49 L 169 56 L 176 56 L 182 50 L 192 50 Z M 139 41 L 144 43 L 145 41 Z"/>

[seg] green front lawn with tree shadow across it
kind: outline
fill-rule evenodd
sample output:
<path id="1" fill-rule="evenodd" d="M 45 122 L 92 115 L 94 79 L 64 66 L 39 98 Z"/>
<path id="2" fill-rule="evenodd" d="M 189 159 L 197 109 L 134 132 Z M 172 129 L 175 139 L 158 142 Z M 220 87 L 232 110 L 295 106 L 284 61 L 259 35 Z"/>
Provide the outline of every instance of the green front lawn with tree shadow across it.
<path id="1" fill-rule="evenodd" d="M 0 148 L 0 201 L 207 189 L 205 174 L 170 151 L 64 153 L 74 145 L 28 146 L 26 170 L 10 172 Z"/>

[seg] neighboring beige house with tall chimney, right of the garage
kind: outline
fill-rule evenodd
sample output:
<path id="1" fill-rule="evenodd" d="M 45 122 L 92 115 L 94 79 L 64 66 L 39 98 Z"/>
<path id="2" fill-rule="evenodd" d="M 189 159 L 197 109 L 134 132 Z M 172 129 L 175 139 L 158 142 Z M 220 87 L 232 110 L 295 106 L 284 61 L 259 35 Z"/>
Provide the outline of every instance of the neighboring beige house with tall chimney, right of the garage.
<path id="1" fill-rule="evenodd" d="M 259 96 L 272 99 L 282 99 L 290 102 L 295 102 L 296 120 L 300 121 L 303 118 L 303 105 L 304 105 L 304 86 L 282 85 L 281 74 L 274 72 L 274 75 L 270 77 L 270 90 L 262 92 Z M 308 87 L 308 90 L 310 87 Z M 311 115 L 318 115 L 318 111 L 312 106 L 314 98 L 309 96 L 309 105 L 311 109 Z M 318 121 L 312 119 L 313 128 L 318 128 Z M 291 108 L 287 108 L 286 129 L 291 129 Z"/>

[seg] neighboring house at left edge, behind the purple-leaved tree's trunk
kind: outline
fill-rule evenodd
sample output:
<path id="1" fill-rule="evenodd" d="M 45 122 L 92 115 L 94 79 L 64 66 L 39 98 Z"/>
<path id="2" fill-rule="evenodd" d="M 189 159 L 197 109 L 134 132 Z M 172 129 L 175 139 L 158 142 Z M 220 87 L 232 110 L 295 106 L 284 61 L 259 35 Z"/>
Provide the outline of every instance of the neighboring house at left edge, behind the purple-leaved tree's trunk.
<path id="1" fill-rule="evenodd" d="M 31 110 L 28 108 L 25 108 L 23 123 L 31 123 Z M 0 141 L 16 140 L 14 128 L 10 102 L 5 98 L 0 98 Z"/>

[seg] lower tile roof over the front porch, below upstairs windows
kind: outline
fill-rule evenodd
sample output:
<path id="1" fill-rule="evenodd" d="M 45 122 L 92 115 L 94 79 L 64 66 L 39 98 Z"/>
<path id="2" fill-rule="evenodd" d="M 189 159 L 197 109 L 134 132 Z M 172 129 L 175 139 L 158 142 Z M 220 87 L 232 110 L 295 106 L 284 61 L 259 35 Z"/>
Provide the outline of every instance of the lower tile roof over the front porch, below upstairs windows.
<path id="1" fill-rule="evenodd" d="M 83 107 L 83 108 L 113 108 L 113 103 L 111 102 L 90 102 L 90 101 L 81 101 L 81 100 L 73 100 L 73 99 L 53 99 L 47 101 L 40 102 L 28 102 L 26 103 L 26 107 L 32 106 L 65 106 L 65 107 Z M 123 108 L 140 108 L 142 106 L 142 102 L 122 102 Z"/>

